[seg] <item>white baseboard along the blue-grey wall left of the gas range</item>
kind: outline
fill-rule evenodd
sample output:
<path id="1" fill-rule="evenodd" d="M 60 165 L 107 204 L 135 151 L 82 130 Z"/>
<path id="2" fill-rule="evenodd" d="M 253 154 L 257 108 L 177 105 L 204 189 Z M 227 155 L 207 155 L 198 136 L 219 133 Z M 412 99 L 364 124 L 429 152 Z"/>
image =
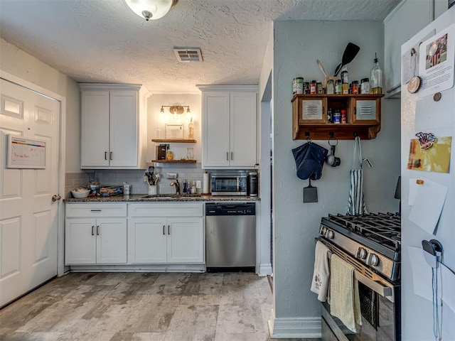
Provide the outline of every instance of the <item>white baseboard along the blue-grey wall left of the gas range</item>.
<path id="1" fill-rule="evenodd" d="M 272 309 L 269 320 L 272 339 L 321 338 L 321 318 L 276 318 Z"/>

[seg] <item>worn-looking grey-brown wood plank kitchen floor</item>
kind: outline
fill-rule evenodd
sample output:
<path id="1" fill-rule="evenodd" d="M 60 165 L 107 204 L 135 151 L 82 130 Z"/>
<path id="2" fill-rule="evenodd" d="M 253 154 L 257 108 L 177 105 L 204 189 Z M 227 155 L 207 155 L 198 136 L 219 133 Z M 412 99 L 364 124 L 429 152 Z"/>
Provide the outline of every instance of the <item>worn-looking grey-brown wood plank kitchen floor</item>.
<path id="1" fill-rule="evenodd" d="M 68 274 L 0 310 L 0 340 L 267 341 L 271 310 L 255 274 Z"/>

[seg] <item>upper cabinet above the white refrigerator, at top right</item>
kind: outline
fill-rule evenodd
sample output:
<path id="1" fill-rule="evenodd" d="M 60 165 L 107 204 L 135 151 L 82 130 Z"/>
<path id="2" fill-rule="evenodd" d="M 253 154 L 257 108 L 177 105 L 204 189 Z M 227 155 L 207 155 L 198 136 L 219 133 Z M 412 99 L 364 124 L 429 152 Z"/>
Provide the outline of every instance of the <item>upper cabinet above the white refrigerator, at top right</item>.
<path id="1" fill-rule="evenodd" d="M 385 97 L 400 97 L 401 45 L 434 20 L 434 0 L 403 0 L 384 19 Z"/>

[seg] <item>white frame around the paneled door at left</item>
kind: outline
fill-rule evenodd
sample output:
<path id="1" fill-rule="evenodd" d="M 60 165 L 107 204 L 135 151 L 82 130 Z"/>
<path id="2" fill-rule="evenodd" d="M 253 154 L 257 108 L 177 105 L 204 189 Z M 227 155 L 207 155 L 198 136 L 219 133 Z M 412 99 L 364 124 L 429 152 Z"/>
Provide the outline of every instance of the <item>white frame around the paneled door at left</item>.
<path id="1" fill-rule="evenodd" d="M 60 197 L 65 197 L 65 141 L 66 141 L 66 97 L 55 92 L 45 89 L 20 77 L 11 75 L 8 72 L 0 70 L 0 78 L 16 83 L 21 87 L 26 87 L 32 91 L 38 92 L 60 102 L 60 127 L 59 127 L 59 151 L 58 151 L 58 194 Z M 65 210 L 63 200 L 58 202 L 57 208 L 58 217 L 58 232 L 57 232 L 57 276 L 65 274 Z"/>

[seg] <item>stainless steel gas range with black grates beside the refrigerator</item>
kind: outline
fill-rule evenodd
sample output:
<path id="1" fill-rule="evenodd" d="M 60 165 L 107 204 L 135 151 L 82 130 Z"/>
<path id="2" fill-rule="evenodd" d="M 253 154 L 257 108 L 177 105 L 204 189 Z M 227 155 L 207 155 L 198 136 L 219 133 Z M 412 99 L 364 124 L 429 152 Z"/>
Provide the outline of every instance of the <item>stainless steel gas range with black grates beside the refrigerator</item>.
<path id="1" fill-rule="evenodd" d="M 319 234 L 333 254 L 354 266 L 362 313 L 353 333 L 322 303 L 322 340 L 400 340 L 400 215 L 328 215 Z"/>

